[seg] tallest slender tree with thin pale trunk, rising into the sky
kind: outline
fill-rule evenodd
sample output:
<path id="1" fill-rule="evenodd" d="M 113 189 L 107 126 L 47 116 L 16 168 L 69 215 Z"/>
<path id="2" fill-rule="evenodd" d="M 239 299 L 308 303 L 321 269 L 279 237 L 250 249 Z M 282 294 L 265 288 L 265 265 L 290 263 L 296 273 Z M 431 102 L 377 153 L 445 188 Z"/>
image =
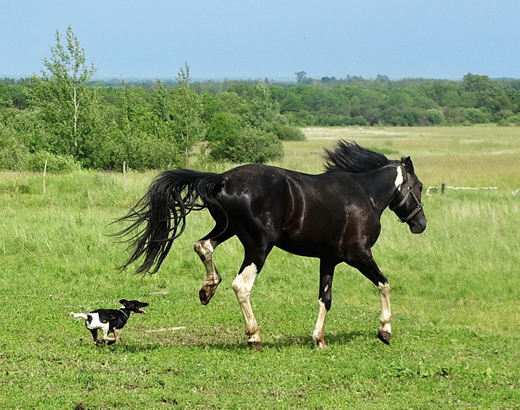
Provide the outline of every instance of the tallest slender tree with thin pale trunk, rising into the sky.
<path id="1" fill-rule="evenodd" d="M 44 58 L 46 70 L 32 77 L 29 100 L 40 110 L 43 121 L 54 134 L 46 149 L 57 154 L 70 154 L 81 159 L 88 155 L 86 145 L 92 143 L 92 132 L 99 106 L 96 88 L 89 86 L 96 72 L 87 66 L 85 50 L 71 26 L 65 33 L 66 44 L 56 30 L 56 45 L 50 47 L 51 57 Z M 89 140 L 89 141 L 87 141 Z"/>

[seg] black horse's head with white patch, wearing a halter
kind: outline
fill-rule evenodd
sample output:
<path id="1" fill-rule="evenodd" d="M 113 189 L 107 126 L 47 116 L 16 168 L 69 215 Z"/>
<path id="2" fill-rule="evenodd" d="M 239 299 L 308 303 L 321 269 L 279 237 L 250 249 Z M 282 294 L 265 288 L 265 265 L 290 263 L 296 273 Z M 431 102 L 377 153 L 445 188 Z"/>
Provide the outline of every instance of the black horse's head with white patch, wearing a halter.
<path id="1" fill-rule="evenodd" d="M 408 223 L 412 233 L 421 233 L 426 229 L 426 216 L 421 202 L 423 185 L 415 175 L 410 157 L 401 158 L 397 172 L 401 172 L 402 179 L 399 180 L 400 184 L 396 180 L 397 191 L 389 207 L 401 222 Z"/>

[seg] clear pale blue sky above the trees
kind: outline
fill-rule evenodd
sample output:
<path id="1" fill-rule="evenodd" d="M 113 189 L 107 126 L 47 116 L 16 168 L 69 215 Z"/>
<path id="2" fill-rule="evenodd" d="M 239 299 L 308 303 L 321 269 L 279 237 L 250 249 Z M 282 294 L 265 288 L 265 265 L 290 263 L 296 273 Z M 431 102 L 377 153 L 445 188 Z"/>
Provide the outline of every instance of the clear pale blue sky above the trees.
<path id="1" fill-rule="evenodd" d="M 518 0 L 3 0 L 0 77 L 39 73 L 69 24 L 96 78 L 520 78 Z"/>

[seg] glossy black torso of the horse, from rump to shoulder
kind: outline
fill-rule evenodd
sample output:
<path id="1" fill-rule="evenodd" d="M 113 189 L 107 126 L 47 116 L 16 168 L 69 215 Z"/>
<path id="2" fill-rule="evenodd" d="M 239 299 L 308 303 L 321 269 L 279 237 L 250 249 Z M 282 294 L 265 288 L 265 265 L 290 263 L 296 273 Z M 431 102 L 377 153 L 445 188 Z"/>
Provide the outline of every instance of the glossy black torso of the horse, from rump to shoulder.
<path id="1" fill-rule="evenodd" d="M 359 229 L 372 231 L 379 220 L 354 175 L 319 175 L 262 164 L 233 168 L 222 174 L 217 196 L 236 233 L 269 238 L 289 252 L 341 258 L 348 237 Z M 368 216 L 368 218 L 367 218 Z M 378 219 L 378 218 L 377 218 Z"/>

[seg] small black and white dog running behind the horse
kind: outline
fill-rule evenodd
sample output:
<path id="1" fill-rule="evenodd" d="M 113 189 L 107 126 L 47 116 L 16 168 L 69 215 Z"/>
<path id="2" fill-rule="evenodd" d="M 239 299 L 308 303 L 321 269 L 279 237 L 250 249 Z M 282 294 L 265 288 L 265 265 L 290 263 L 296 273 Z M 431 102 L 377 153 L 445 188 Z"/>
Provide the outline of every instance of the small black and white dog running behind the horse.
<path id="1" fill-rule="evenodd" d="M 92 333 L 96 345 L 102 342 L 113 344 L 119 340 L 119 330 L 126 325 L 130 315 L 132 313 L 145 314 L 146 312 L 141 307 L 148 306 L 148 303 L 145 302 L 127 301 L 126 299 L 120 300 L 119 303 L 123 304 L 119 309 L 96 309 L 88 314 L 71 312 L 70 316 L 85 319 L 85 326 Z M 103 332 L 102 340 L 97 338 L 99 329 Z M 109 338 L 109 333 L 113 333 L 114 337 Z"/>

